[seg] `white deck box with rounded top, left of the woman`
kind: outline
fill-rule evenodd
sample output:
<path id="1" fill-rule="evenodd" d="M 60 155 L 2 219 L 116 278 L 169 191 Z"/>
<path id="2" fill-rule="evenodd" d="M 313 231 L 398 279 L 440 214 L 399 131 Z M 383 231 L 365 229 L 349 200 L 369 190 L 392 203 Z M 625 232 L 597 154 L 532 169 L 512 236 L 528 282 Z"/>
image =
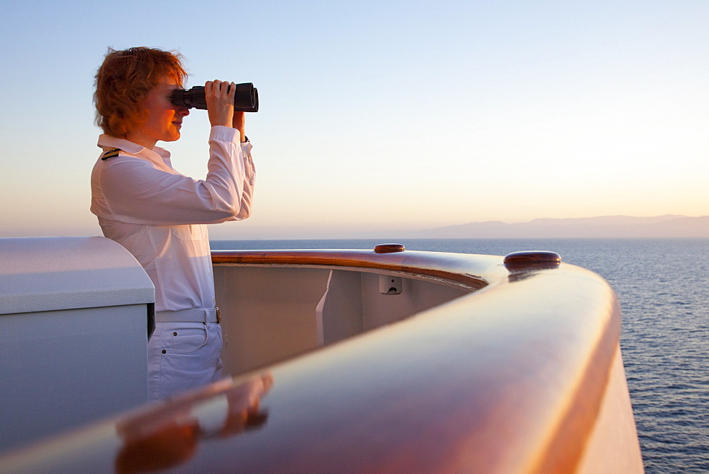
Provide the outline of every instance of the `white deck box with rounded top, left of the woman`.
<path id="1" fill-rule="evenodd" d="M 153 302 L 106 238 L 0 239 L 0 451 L 147 402 Z"/>

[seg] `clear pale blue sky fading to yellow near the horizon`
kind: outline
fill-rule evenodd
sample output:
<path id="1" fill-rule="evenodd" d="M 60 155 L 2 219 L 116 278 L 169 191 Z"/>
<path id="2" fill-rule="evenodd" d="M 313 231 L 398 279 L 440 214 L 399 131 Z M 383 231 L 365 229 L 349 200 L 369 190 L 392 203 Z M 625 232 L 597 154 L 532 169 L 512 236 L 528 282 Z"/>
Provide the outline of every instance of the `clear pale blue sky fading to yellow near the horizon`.
<path id="1" fill-rule="evenodd" d="M 212 238 L 709 214 L 709 1 L 0 0 L 0 237 L 100 235 L 108 46 L 254 82 L 257 188 Z M 206 174 L 206 111 L 164 145 Z"/>

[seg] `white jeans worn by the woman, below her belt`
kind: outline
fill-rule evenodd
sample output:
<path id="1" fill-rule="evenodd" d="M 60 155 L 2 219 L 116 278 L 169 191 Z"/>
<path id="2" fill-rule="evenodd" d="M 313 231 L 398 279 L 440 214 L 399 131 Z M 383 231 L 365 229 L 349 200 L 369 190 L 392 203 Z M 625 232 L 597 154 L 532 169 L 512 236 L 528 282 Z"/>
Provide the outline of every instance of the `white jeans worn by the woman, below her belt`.
<path id="1" fill-rule="evenodd" d="M 218 323 L 156 323 L 147 344 L 147 390 L 155 401 L 222 378 Z"/>

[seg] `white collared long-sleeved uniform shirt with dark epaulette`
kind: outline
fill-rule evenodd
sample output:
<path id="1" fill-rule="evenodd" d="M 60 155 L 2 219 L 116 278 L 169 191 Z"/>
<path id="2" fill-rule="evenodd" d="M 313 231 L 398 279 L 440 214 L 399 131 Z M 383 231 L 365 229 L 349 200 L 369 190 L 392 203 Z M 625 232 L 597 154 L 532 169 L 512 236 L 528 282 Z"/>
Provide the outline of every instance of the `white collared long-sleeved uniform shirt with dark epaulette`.
<path id="1" fill-rule="evenodd" d="M 246 219 L 251 212 L 255 168 L 251 144 L 230 127 L 209 136 L 205 180 L 175 171 L 167 150 L 99 137 L 101 155 L 91 172 L 91 212 L 104 236 L 143 265 L 155 285 L 155 311 L 214 307 L 214 280 L 203 224 Z"/>

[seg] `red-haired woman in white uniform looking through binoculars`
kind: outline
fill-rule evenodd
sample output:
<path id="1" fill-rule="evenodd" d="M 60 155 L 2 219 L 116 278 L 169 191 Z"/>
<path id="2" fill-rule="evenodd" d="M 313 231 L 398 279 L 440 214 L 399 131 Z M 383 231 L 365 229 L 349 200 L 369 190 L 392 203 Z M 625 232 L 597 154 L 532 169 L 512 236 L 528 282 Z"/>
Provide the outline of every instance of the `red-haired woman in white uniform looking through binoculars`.
<path id="1" fill-rule="evenodd" d="M 96 124 L 103 150 L 91 173 L 91 212 L 104 236 L 124 246 L 155 285 L 148 342 L 151 400 L 221 377 L 221 329 L 205 224 L 246 219 L 255 170 L 233 83 L 205 84 L 211 123 L 208 173 L 193 180 L 172 167 L 158 141 L 180 137 L 184 88 L 179 55 L 152 48 L 108 50 L 96 73 Z"/>

